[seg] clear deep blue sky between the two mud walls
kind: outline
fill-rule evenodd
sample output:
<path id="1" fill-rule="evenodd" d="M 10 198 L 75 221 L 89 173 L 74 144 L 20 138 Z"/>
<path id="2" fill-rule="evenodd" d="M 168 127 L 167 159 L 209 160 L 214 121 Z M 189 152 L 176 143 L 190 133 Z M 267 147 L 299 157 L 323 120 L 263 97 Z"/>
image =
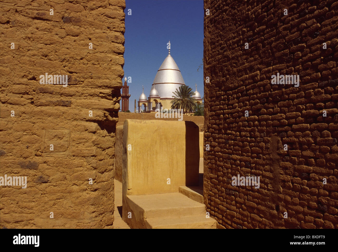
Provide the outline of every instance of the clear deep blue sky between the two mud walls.
<path id="1" fill-rule="evenodd" d="M 169 40 L 170 55 L 185 84 L 195 91 L 196 83 L 203 97 L 203 69 L 197 72 L 203 58 L 203 0 L 126 0 L 124 13 L 123 69 L 132 81 L 127 83 L 130 112 L 134 112 L 134 100 L 139 100 L 142 85 L 149 96 L 157 70 L 168 55 Z"/>

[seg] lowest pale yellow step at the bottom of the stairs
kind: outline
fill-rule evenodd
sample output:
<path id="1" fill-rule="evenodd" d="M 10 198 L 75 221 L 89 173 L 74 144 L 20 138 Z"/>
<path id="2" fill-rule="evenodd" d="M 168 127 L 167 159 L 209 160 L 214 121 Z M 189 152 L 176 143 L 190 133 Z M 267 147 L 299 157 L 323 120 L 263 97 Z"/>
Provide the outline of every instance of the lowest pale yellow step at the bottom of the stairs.
<path id="1" fill-rule="evenodd" d="M 205 214 L 157 217 L 145 219 L 146 228 L 198 228 L 215 229 L 216 221 Z"/>

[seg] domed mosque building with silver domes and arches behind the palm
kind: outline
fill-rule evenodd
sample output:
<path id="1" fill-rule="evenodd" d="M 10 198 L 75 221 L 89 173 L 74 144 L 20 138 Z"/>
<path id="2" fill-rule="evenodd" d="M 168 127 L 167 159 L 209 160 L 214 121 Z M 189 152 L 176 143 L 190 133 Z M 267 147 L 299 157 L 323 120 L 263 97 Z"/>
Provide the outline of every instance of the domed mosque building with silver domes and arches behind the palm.
<path id="1" fill-rule="evenodd" d="M 170 41 L 169 41 L 170 44 Z M 138 101 L 138 111 L 142 112 L 142 105 L 144 107 L 143 112 L 154 112 L 156 109 L 171 109 L 171 101 L 174 99 L 173 92 L 178 90 L 182 85 L 186 85 L 182 77 L 181 71 L 176 65 L 174 59 L 169 54 L 164 59 L 162 65 L 155 75 L 154 82 L 151 86 L 150 94 L 147 96 L 144 94 L 142 87 L 142 94 Z M 202 103 L 202 98 L 199 92 L 196 91 L 192 96 L 197 100 L 197 104 Z"/>

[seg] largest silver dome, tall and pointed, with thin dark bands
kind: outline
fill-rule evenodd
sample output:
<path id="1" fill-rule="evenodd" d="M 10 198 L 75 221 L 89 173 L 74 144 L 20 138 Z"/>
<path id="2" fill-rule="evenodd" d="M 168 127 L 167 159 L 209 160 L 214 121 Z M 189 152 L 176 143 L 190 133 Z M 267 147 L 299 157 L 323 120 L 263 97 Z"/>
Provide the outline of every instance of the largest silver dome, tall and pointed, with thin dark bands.
<path id="1" fill-rule="evenodd" d="M 157 71 L 153 85 L 156 85 L 161 99 L 173 98 L 173 92 L 181 85 L 185 85 L 181 71 L 170 54 Z"/>

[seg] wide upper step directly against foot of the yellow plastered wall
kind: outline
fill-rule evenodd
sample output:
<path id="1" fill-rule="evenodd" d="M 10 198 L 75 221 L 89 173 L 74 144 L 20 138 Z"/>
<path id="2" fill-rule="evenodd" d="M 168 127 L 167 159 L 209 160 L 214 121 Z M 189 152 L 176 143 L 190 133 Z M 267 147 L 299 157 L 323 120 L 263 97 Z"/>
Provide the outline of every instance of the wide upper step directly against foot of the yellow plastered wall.
<path id="1" fill-rule="evenodd" d="M 182 193 L 128 195 L 130 209 L 143 219 L 206 214 L 205 205 L 187 198 Z"/>

